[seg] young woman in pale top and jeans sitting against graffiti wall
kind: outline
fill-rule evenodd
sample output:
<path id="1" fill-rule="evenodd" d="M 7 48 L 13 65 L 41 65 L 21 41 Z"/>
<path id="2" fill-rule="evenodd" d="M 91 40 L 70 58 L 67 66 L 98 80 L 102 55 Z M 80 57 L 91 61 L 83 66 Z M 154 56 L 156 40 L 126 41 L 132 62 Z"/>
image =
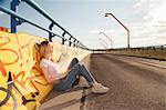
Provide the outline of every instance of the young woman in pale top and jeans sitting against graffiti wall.
<path id="1" fill-rule="evenodd" d="M 52 53 L 53 44 L 51 42 L 43 41 L 40 43 L 40 68 L 46 81 L 53 83 L 54 89 L 66 90 L 75 83 L 77 78 L 84 78 L 85 81 L 79 82 L 79 87 L 89 87 L 93 93 L 105 93 L 108 91 L 107 87 L 95 81 L 91 72 L 76 58 L 71 61 L 66 73 L 60 73 L 56 69 L 58 62 L 55 63 L 52 60 Z"/>

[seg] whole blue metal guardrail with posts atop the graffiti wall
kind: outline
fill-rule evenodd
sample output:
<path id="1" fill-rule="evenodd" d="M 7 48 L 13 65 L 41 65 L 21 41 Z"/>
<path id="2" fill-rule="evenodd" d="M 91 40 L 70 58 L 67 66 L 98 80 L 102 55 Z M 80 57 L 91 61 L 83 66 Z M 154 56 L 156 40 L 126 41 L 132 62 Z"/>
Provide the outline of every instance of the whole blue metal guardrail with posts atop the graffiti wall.
<path id="1" fill-rule="evenodd" d="M 40 12 L 42 16 L 44 16 L 48 20 L 51 21 L 51 24 L 49 27 L 49 29 L 45 29 L 43 27 L 40 27 L 39 24 L 35 24 L 33 23 L 32 21 L 25 19 L 24 17 L 15 13 L 17 12 L 17 8 L 18 6 L 20 4 L 21 1 L 24 1 L 27 2 L 29 6 L 31 6 L 33 9 L 35 9 L 38 12 Z M 1 6 L 0 6 L 1 7 Z M 12 10 L 12 11 L 11 11 Z M 46 12 L 44 11 L 38 3 L 35 3 L 33 0 L 12 0 L 11 2 L 11 10 L 7 9 L 7 8 L 3 8 L 1 7 L 1 11 L 8 13 L 11 16 L 11 32 L 12 33 L 15 33 L 17 32 L 17 26 L 23 23 L 23 22 L 28 22 L 37 28 L 40 28 L 46 32 L 49 32 L 49 40 L 52 41 L 52 38 L 53 37 L 59 37 L 62 39 L 62 44 L 64 44 L 65 41 L 69 41 L 69 46 L 71 47 L 72 43 L 73 43 L 73 47 L 76 47 L 76 48 L 82 48 L 82 49 L 85 49 L 85 50 L 90 50 L 89 48 L 86 48 L 82 42 L 80 42 L 76 38 L 74 38 L 70 32 L 68 32 L 63 27 L 61 27 L 58 22 L 55 22 L 52 17 Z M 56 33 L 54 33 L 52 31 L 52 28 L 53 26 L 56 26 L 58 28 L 60 28 L 63 33 L 62 36 L 59 36 Z M 66 39 L 64 36 L 68 34 L 70 36 L 69 39 Z M 72 41 L 73 40 L 73 41 Z"/>

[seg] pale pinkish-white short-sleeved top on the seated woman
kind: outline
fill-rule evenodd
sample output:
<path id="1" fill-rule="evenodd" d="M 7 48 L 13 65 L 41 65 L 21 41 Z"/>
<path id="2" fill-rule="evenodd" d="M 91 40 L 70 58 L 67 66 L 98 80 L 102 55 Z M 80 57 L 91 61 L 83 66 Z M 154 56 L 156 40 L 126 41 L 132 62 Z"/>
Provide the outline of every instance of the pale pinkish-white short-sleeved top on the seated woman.
<path id="1" fill-rule="evenodd" d="M 54 79 L 54 80 L 61 79 L 62 76 L 56 68 L 56 63 L 52 62 L 51 60 L 42 59 L 40 61 L 40 68 L 42 69 L 43 67 L 48 68 L 49 74 L 44 74 L 44 76 L 48 76 L 48 78 L 50 80 L 51 79 Z"/>

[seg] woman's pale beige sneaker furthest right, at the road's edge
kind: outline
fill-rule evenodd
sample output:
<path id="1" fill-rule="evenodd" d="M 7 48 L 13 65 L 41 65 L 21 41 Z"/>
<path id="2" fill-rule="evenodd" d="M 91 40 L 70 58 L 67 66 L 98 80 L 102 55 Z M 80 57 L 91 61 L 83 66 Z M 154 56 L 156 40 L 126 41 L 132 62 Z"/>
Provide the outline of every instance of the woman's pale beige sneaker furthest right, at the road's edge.
<path id="1" fill-rule="evenodd" d="M 106 93 L 107 91 L 108 91 L 108 88 L 102 86 L 101 83 L 97 83 L 96 86 L 92 87 L 93 93 Z"/>

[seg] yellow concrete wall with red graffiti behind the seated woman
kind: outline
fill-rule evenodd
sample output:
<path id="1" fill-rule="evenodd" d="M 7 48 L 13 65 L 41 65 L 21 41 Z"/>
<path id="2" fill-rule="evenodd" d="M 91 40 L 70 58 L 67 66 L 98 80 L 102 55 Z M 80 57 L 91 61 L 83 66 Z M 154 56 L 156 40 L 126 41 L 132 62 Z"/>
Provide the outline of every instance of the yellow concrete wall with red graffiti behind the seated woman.
<path id="1" fill-rule="evenodd" d="M 52 90 L 41 69 L 38 42 L 44 39 L 25 34 L 0 31 L 0 110 L 32 110 Z M 54 61 L 64 72 L 72 60 L 80 60 L 90 51 L 54 42 Z"/>

